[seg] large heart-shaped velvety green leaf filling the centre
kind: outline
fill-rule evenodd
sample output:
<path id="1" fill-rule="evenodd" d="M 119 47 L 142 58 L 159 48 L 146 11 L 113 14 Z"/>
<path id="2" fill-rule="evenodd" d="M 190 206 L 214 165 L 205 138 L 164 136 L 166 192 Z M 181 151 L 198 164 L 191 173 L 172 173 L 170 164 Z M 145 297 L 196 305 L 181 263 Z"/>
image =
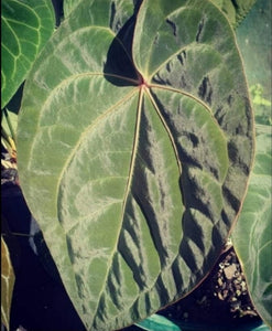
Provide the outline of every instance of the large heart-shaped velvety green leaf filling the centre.
<path id="1" fill-rule="evenodd" d="M 70 12 L 25 85 L 19 175 L 87 329 L 141 320 L 207 275 L 246 193 L 252 120 L 210 2 Z"/>

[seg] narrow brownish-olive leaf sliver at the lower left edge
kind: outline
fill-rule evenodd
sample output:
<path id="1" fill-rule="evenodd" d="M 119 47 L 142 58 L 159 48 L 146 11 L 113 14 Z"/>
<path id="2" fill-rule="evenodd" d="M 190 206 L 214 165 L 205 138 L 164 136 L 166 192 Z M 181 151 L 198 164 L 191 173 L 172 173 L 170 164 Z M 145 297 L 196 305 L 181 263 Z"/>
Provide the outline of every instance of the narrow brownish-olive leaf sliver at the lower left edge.
<path id="1" fill-rule="evenodd" d="M 10 308 L 15 277 L 9 248 L 1 236 L 1 321 L 10 330 Z"/>

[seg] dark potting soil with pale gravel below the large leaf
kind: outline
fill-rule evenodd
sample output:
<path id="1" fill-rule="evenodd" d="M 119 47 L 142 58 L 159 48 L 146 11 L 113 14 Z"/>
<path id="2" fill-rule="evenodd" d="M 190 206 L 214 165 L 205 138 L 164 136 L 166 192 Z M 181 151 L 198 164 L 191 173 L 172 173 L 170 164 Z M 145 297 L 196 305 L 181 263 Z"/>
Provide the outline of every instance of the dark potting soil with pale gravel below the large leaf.
<path id="1" fill-rule="evenodd" d="M 159 313 L 184 325 L 241 325 L 261 321 L 232 246 L 220 256 L 198 288 Z"/>

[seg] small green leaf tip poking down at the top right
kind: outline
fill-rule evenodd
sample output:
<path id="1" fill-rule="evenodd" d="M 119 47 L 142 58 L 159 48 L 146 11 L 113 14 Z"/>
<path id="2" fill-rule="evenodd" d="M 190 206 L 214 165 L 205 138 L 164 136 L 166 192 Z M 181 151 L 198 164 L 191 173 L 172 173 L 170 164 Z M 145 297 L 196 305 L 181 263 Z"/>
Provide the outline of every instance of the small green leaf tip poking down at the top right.
<path id="1" fill-rule="evenodd" d="M 230 24 L 237 28 L 257 0 L 211 0 L 227 15 Z"/>

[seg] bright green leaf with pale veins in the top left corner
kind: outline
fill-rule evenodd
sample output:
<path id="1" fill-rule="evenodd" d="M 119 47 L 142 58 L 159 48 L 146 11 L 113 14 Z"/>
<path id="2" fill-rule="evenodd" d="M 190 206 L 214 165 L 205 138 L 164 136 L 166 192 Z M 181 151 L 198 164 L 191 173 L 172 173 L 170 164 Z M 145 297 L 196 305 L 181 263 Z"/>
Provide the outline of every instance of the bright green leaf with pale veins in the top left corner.
<path id="1" fill-rule="evenodd" d="M 1 108 L 25 79 L 54 23 L 51 0 L 1 1 Z"/>

